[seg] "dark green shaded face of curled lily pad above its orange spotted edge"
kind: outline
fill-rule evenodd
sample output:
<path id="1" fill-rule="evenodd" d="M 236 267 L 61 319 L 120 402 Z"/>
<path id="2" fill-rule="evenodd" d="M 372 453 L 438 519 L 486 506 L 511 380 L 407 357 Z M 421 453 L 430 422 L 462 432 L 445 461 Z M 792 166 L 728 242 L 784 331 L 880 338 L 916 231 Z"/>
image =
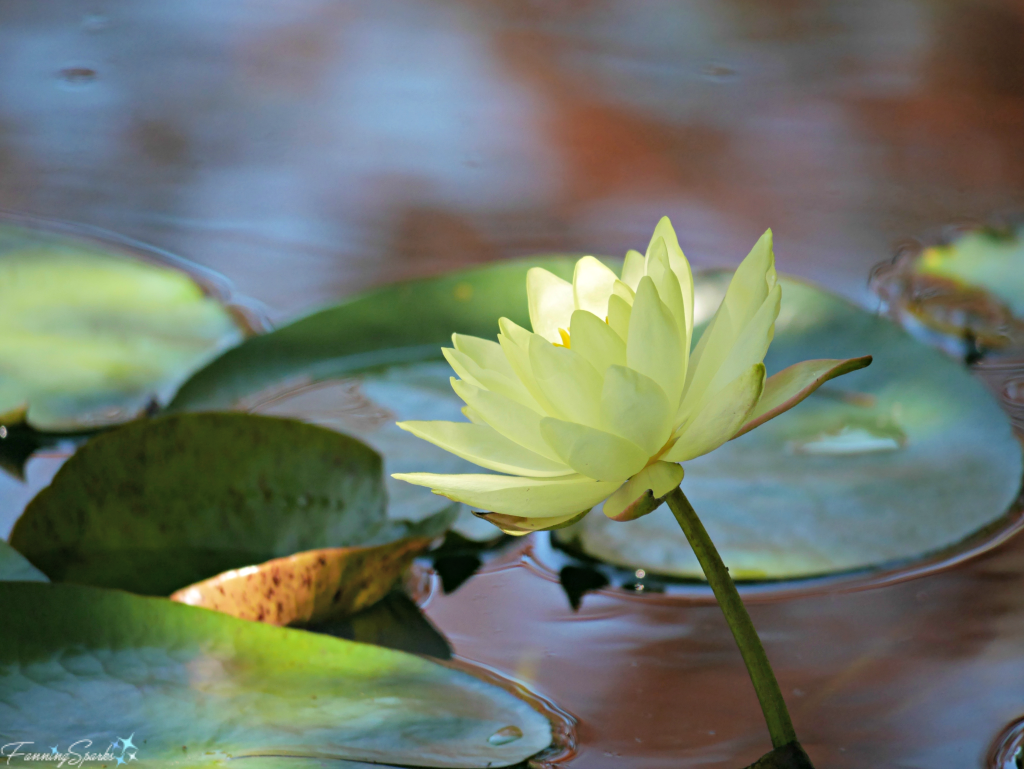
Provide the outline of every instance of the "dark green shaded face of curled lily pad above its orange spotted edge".
<path id="1" fill-rule="evenodd" d="M 99 435 L 26 508 L 10 544 L 50 579 L 167 595 L 241 566 L 443 531 L 385 513 L 381 459 L 291 420 L 182 414 Z"/>

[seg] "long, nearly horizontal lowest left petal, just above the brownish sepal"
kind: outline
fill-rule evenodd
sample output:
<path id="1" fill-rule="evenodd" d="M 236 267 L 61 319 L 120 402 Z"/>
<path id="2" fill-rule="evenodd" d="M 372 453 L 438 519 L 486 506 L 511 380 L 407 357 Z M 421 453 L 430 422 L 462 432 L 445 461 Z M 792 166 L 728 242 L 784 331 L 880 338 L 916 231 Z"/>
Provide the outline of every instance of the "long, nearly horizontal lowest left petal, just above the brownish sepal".
<path id="1" fill-rule="evenodd" d="M 618 482 L 602 482 L 579 475 L 554 480 L 516 475 L 434 473 L 395 473 L 391 477 L 427 486 L 434 494 L 477 510 L 523 518 L 552 518 L 582 513 L 618 486 Z"/>

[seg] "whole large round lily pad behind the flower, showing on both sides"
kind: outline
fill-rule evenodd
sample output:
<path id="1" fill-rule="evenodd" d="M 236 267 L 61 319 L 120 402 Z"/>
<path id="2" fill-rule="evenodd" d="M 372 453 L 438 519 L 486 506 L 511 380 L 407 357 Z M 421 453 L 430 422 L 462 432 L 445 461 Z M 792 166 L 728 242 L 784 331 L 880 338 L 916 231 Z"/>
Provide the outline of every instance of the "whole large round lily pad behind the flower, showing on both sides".
<path id="1" fill-rule="evenodd" d="M 573 264 L 505 262 L 376 290 L 247 340 L 199 372 L 172 408 L 263 401 L 268 413 L 359 435 L 381 452 L 388 473 L 479 472 L 392 423 L 459 419 L 463 403 L 439 347 L 452 332 L 494 338 L 502 315 L 528 324 L 526 270 L 540 265 L 568 277 Z M 728 277 L 696 276 L 698 321 L 714 312 Z M 874 364 L 686 464 L 684 488 L 734 573 L 795 576 L 914 558 L 1002 516 L 1020 486 L 1021 451 L 984 388 L 890 322 L 806 284 L 782 285 L 769 374 L 807 358 L 871 354 Z M 274 389 L 276 397 L 259 395 Z M 428 489 L 392 488 L 409 517 L 443 504 Z M 699 573 L 667 511 L 628 524 L 598 512 L 562 533 L 615 563 Z M 643 552 L 626 554 L 628 544 Z"/>

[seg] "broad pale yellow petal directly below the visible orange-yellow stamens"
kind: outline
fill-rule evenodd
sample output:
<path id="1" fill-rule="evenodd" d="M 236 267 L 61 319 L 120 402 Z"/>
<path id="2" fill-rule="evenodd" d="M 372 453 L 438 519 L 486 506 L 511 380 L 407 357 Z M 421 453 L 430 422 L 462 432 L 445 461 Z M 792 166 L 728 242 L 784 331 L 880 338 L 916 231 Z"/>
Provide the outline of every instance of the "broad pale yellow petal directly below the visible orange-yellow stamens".
<path id="1" fill-rule="evenodd" d="M 597 425 L 601 419 L 601 375 L 587 358 L 540 336 L 529 340 L 529 364 L 549 413 L 569 422 Z"/>

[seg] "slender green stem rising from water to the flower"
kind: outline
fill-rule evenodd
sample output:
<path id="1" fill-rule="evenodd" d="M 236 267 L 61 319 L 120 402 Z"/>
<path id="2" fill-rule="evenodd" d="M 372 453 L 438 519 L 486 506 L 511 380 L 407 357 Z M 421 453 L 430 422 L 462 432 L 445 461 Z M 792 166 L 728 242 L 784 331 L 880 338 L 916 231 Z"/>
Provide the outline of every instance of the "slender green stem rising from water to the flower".
<path id="1" fill-rule="evenodd" d="M 754 623 L 751 622 L 751 615 L 746 613 L 746 607 L 739 598 L 736 585 L 729 576 L 729 569 L 722 563 L 722 556 L 718 554 L 715 544 L 682 489 L 677 486 L 675 490 L 669 493 L 666 500 L 683 533 L 686 535 L 690 547 L 693 548 L 700 562 L 700 568 L 708 578 L 708 584 L 715 592 L 718 605 L 722 607 L 722 613 L 729 623 L 732 637 L 736 639 L 739 653 L 743 656 L 746 672 L 761 702 L 761 711 L 768 724 L 772 745 L 781 747 L 796 742 L 797 732 L 793 729 L 793 721 L 782 699 L 782 692 L 778 688 L 778 681 L 775 680 L 775 674 L 768 663 L 761 639 L 758 638 L 758 632 L 754 629 Z"/>

